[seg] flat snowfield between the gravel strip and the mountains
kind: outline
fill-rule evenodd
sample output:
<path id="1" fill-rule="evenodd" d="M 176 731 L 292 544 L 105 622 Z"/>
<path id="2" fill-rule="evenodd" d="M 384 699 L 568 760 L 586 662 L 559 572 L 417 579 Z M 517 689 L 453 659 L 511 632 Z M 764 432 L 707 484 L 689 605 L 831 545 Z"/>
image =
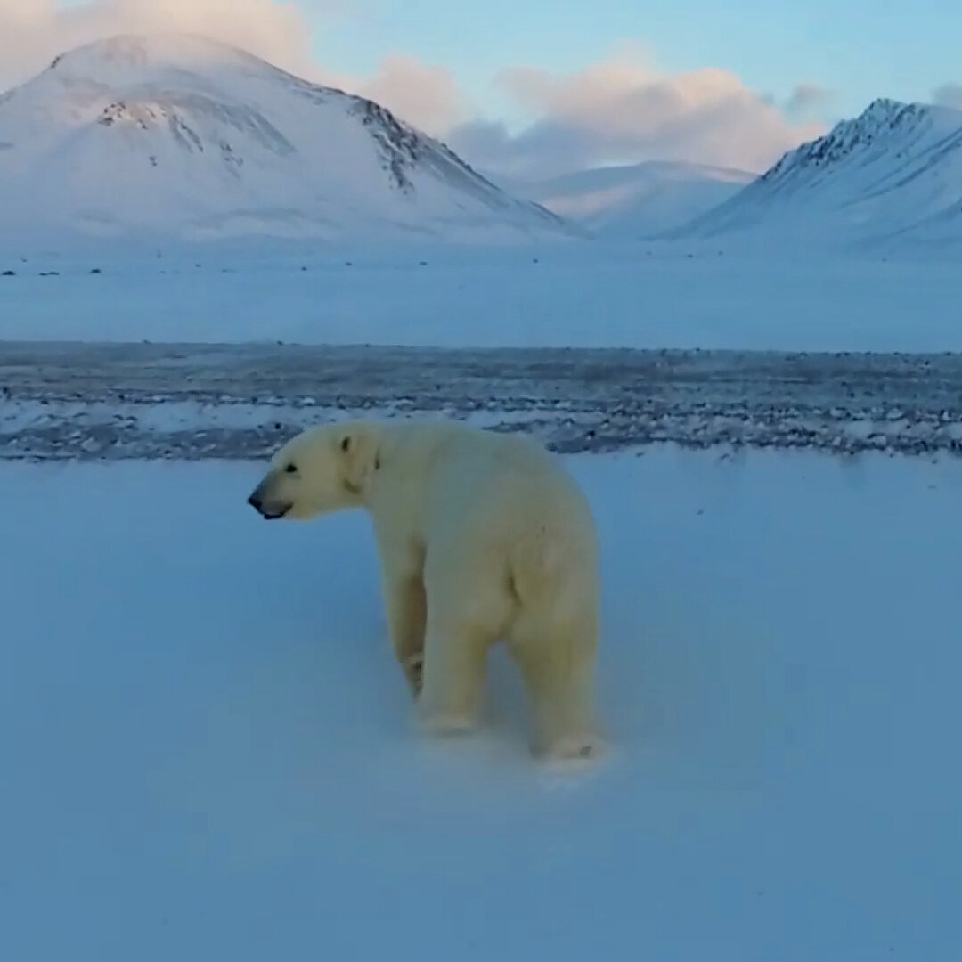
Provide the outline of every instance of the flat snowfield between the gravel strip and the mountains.
<path id="1" fill-rule="evenodd" d="M 0 274 L 14 271 L 0 276 L 0 340 L 962 349 L 957 259 L 720 249 L 219 247 L 27 263 L 12 252 L 0 256 Z"/>

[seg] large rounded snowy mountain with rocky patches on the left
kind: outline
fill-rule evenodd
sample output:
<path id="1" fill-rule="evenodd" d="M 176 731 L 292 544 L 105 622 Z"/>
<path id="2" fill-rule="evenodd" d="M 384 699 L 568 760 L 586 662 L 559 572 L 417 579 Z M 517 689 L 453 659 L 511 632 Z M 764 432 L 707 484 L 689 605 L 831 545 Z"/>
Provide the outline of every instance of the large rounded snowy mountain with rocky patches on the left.
<path id="1" fill-rule="evenodd" d="M 0 96 L 0 228 L 191 241 L 567 231 L 383 107 L 183 35 L 98 41 Z"/>

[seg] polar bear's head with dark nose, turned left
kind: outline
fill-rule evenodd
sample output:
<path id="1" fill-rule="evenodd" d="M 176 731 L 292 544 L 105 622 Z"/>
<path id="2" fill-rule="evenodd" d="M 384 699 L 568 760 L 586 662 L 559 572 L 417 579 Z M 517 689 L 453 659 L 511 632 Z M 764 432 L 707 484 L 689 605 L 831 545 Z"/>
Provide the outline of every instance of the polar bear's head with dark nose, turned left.
<path id="1" fill-rule="evenodd" d="M 364 421 L 310 428 L 273 456 L 247 503 L 268 520 L 310 520 L 359 505 L 377 449 L 377 431 Z"/>

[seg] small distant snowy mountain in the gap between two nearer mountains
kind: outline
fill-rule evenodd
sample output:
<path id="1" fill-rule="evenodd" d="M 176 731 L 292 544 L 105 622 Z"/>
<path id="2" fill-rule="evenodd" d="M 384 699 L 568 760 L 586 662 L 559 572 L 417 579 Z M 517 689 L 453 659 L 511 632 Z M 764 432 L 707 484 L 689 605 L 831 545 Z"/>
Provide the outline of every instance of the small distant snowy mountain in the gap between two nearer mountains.
<path id="1" fill-rule="evenodd" d="M 647 239 L 716 207 L 753 177 L 727 167 L 648 161 L 510 187 L 599 237 Z"/>

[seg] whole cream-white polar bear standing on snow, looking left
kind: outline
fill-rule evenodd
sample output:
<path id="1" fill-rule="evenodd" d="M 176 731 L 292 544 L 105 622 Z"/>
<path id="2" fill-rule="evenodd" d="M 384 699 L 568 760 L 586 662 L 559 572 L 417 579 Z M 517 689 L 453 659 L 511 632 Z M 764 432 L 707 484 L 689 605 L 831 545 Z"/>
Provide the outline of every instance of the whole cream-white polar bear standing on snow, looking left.
<path id="1" fill-rule="evenodd" d="M 453 421 L 326 424 L 280 448 L 248 503 L 266 519 L 367 510 L 394 653 L 429 731 L 474 726 L 503 640 L 534 751 L 599 753 L 595 522 L 542 445 Z"/>

